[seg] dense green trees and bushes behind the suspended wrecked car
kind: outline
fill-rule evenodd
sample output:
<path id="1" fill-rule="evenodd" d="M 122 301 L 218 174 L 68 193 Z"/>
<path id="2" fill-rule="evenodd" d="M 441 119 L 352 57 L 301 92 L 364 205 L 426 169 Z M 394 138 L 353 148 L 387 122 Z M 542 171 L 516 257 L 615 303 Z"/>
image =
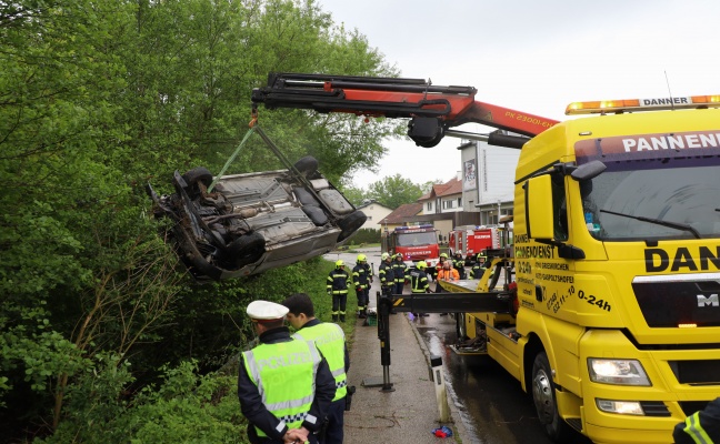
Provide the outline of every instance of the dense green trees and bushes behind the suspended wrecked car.
<path id="1" fill-rule="evenodd" d="M 144 185 L 170 192 L 174 170 L 218 172 L 269 72 L 397 70 L 313 0 L 10 1 L 0 36 L 0 436 L 238 442 L 228 363 L 253 339 L 244 307 L 327 297 L 327 264 L 197 285 Z M 402 132 L 259 112 L 290 160 L 313 155 L 339 186 Z M 251 138 L 227 173 L 279 168 Z"/>

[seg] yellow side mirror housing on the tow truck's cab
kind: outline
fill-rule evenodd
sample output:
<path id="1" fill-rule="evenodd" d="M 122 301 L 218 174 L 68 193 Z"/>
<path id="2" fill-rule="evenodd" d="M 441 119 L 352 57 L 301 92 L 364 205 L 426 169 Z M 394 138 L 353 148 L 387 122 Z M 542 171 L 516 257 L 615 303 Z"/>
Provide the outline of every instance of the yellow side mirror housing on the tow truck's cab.
<path id="1" fill-rule="evenodd" d="M 554 238 L 552 178 L 550 174 L 531 178 L 523 188 L 528 238 L 552 240 Z"/>

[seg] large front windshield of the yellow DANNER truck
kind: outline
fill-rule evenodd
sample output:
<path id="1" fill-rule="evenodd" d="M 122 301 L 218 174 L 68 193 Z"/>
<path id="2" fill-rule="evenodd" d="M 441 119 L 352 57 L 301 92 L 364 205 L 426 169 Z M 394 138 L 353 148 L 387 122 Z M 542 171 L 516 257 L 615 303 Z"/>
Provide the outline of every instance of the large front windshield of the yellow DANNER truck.
<path id="1" fill-rule="evenodd" d="M 604 241 L 717 238 L 719 165 L 714 157 L 609 163 L 580 182 L 587 228 Z"/>

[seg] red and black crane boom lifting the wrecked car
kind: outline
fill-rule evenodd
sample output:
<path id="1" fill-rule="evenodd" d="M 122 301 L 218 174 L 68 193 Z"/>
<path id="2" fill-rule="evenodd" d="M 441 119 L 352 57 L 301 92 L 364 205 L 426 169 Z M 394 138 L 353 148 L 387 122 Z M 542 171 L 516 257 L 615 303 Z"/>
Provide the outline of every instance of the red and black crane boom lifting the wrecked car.
<path id="1" fill-rule="evenodd" d="M 423 79 L 272 72 L 268 85 L 252 91 L 253 107 L 298 108 L 390 119 L 408 118 L 408 135 L 434 147 L 449 128 L 463 123 L 534 137 L 558 123 L 474 100 L 472 87 L 433 85 Z M 524 140 L 524 138 L 522 138 Z"/>

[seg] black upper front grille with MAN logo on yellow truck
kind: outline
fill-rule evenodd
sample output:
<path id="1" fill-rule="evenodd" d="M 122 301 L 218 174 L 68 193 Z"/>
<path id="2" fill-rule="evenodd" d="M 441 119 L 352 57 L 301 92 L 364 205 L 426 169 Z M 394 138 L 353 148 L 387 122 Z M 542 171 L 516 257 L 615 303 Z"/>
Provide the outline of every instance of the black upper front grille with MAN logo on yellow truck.
<path id="1" fill-rule="evenodd" d="M 632 290 L 651 327 L 720 325 L 720 273 L 638 276 Z"/>

